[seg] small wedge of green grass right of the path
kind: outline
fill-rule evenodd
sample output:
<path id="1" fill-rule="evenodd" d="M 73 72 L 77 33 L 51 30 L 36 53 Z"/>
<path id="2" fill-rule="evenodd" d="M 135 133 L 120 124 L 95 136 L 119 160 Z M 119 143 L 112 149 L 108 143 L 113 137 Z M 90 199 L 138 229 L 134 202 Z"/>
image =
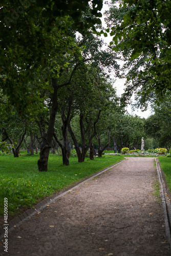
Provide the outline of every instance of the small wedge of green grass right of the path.
<path id="1" fill-rule="evenodd" d="M 158 157 L 159 162 L 161 164 L 161 168 L 166 177 L 166 181 L 171 191 L 171 158 L 170 157 Z"/>

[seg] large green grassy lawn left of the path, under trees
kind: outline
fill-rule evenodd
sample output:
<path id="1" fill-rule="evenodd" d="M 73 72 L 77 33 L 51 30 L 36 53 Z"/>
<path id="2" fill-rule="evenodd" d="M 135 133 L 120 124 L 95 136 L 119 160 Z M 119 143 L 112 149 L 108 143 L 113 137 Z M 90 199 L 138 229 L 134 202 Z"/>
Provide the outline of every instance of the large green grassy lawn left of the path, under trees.
<path id="1" fill-rule="evenodd" d="M 124 159 L 123 156 L 102 156 L 78 163 L 77 157 L 70 157 L 70 165 L 63 166 L 61 156 L 50 154 L 48 172 L 39 173 L 39 155 L 20 153 L 19 158 L 0 156 L 0 216 L 4 215 L 4 198 L 8 198 L 8 216 L 11 218 L 40 199 Z"/>

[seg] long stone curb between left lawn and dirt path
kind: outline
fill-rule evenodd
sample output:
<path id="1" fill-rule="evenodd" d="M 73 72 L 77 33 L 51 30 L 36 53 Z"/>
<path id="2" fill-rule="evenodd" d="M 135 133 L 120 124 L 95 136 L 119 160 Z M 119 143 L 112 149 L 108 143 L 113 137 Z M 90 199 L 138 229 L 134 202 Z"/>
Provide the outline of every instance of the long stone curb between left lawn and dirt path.
<path id="1" fill-rule="evenodd" d="M 76 183 L 72 184 L 71 186 L 67 187 L 67 188 L 64 188 L 62 189 L 61 191 L 59 191 L 58 193 L 56 194 L 53 194 L 52 196 L 50 197 L 47 197 L 46 199 L 40 201 L 38 204 L 36 204 L 34 206 L 34 209 L 33 208 L 30 208 L 28 209 L 27 211 L 25 211 L 22 215 L 19 215 L 17 217 L 15 217 L 13 220 L 11 220 L 9 223 L 8 223 L 8 233 L 13 230 L 16 226 L 22 224 L 25 220 L 27 219 L 30 219 L 34 214 L 36 214 L 38 211 L 44 209 L 48 204 L 51 204 L 53 203 L 56 199 L 62 197 L 62 196 L 65 196 L 69 190 L 73 190 L 74 188 L 76 188 L 77 186 L 83 184 L 85 181 L 88 181 L 90 179 L 93 179 L 94 177 L 104 173 L 106 170 L 109 170 L 111 168 L 113 168 L 115 165 L 117 164 L 120 164 L 121 162 L 125 161 L 126 159 L 124 160 L 121 160 L 109 167 L 106 167 L 102 170 L 100 170 L 99 172 L 95 173 L 95 174 L 92 174 L 90 175 L 89 177 L 86 177 L 86 178 L 83 178 L 79 181 L 77 181 Z M 15 226 L 15 227 L 14 227 Z M 4 236 L 4 228 L 3 227 L 0 227 L 0 239 L 3 238 Z"/>

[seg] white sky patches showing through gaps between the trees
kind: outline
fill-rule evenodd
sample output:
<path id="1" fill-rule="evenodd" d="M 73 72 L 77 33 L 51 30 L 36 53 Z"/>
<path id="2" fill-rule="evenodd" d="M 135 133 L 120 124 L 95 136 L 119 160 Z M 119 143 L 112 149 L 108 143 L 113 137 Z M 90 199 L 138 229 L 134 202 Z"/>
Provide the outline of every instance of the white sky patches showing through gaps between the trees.
<path id="1" fill-rule="evenodd" d="M 108 10 L 108 5 L 105 5 L 103 3 L 103 8 L 101 10 L 101 13 L 102 13 L 102 25 L 103 27 L 105 27 L 105 22 L 104 22 L 104 16 L 103 16 L 103 12 L 105 10 Z M 106 44 L 110 44 L 110 42 L 112 41 L 112 37 L 110 36 L 110 34 L 108 34 L 108 37 L 104 37 L 102 36 L 102 39 L 104 40 L 104 42 L 106 42 Z M 119 79 L 117 78 L 116 79 L 116 82 L 114 83 L 114 87 L 116 87 L 117 89 L 117 94 L 118 95 L 121 95 L 123 92 L 124 92 L 124 82 L 125 80 L 124 79 Z M 134 99 L 133 99 L 134 100 Z M 135 111 L 132 111 L 131 109 L 131 105 L 127 106 L 126 110 L 132 114 L 132 115 L 137 115 L 137 116 L 140 116 L 140 117 L 144 117 L 144 118 L 147 118 L 148 116 L 151 115 L 151 109 L 149 108 L 147 111 L 144 111 L 142 112 L 140 109 L 137 109 Z"/>

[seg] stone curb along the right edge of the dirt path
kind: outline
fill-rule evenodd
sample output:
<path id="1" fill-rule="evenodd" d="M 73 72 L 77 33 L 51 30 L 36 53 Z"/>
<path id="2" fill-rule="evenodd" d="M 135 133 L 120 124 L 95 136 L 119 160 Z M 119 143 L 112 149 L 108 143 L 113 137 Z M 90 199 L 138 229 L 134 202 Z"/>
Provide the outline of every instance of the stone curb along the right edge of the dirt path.
<path id="1" fill-rule="evenodd" d="M 156 166 L 157 166 L 157 173 L 159 176 L 159 182 L 161 186 L 160 197 L 162 200 L 163 210 L 164 210 L 164 222 L 165 222 L 165 231 L 166 236 L 170 244 L 170 256 L 171 256 L 171 194 L 168 189 L 168 185 L 166 182 L 165 175 L 161 168 L 159 160 L 156 158 Z"/>

